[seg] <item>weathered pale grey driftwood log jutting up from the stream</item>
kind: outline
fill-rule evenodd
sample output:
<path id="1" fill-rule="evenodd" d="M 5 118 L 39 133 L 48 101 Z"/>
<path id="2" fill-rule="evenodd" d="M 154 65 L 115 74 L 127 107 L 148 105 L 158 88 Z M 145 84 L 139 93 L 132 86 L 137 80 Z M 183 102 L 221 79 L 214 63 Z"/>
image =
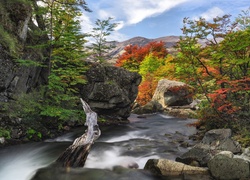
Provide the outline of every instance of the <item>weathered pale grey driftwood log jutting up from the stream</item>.
<path id="1" fill-rule="evenodd" d="M 86 113 L 85 126 L 88 126 L 85 133 L 76 138 L 56 160 L 56 163 L 63 167 L 83 167 L 92 144 L 101 135 L 97 124 L 97 114 L 91 110 L 89 105 L 80 98 L 83 110 Z"/>

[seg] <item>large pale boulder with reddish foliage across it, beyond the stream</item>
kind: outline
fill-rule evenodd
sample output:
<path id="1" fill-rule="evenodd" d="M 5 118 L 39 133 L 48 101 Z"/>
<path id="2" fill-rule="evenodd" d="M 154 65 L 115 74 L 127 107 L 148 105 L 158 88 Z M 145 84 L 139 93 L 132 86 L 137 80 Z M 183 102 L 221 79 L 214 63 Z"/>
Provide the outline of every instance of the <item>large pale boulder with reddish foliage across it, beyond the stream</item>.
<path id="1" fill-rule="evenodd" d="M 162 107 L 189 105 L 194 89 L 178 81 L 162 79 L 158 82 L 152 101 L 159 102 Z"/>

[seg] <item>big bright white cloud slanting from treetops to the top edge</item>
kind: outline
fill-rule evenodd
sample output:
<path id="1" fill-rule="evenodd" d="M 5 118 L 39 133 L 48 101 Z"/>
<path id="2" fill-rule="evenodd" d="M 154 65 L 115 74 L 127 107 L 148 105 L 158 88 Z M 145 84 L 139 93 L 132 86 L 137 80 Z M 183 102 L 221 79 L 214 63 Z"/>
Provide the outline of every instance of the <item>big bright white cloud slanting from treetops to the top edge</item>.
<path id="1" fill-rule="evenodd" d="M 119 33 L 122 28 L 140 23 L 150 17 L 156 17 L 171 8 L 191 1 L 193 0 L 98 0 L 93 3 L 89 2 L 89 5 L 91 4 L 89 8 L 93 12 L 84 13 L 83 30 L 90 32 L 96 19 L 104 20 L 112 17 L 112 23 L 119 24 L 111 33 L 114 37 L 111 39 L 116 37 L 120 41 L 126 39 L 125 35 Z"/>

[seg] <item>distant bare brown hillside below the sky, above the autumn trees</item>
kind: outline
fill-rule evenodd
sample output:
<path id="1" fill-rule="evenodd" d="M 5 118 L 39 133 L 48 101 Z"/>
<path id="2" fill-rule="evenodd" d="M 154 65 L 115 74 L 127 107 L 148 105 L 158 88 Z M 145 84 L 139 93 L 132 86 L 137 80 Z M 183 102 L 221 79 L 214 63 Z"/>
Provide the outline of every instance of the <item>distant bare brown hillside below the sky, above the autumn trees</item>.
<path id="1" fill-rule="evenodd" d="M 176 44 L 176 42 L 179 41 L 179 36 L 165 36 L 165 37 L 160 37 L 156 39 L 147 39 L 144 37 L 134 37 L 129 40 L 123 41 L 123 42 L 117 42 L 117 41 L 112 41 L 109 42 L 111 45 L 113 45 L 115 48 L 111 49 L 108 53 L 108 55 L 111 57 L 111 60 L 109 61 L 110 63 L 115 63 L 117 57 L 119 54 L 122 54 L 124 52 L 124 48 L 127 45 L 138 45 L 138 46 L 144 46 L 148 44 L 149 42 L 153 41 L 162 41 L 166 44 L 166 48 L 171 52 L 171 48 Z"/>

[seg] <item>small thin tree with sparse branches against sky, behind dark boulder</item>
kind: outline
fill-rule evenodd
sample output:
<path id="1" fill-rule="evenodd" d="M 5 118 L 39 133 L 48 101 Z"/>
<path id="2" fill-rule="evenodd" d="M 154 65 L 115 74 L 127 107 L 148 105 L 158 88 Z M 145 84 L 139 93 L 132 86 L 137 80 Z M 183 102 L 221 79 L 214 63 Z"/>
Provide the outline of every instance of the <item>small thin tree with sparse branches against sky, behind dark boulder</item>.
<path id="1" fill-rule="evenodd" d="M 115 30 L 117 23 L 111 23 L 112 18 L 109 17 L 106 20 L 97 19 L 95 27 L 93 28 L 90 36 L 94 39 L 91 46 L 91 51 L 95 61 L 103 62 L 107 58 L 107 52 L 113 46 L 111 46 L 107 37 Z"/>

